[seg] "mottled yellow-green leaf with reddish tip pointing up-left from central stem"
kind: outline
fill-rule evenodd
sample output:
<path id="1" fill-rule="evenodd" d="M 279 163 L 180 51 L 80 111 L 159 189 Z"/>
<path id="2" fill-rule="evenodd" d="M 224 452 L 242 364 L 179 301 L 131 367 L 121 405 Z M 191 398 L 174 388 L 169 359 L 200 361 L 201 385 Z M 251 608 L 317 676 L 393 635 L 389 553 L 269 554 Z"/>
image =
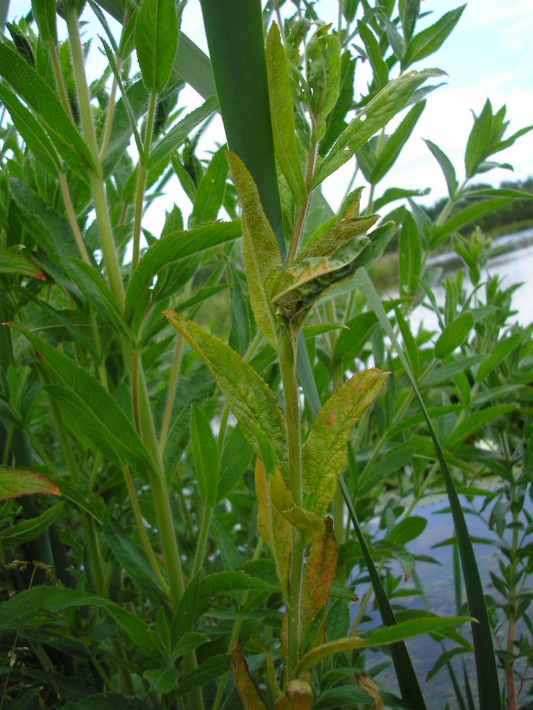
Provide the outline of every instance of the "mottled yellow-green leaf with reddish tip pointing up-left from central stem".
<path id="1" fill-rule="evenodd" d="M 255 422 L 268 437 L 279 460 L 285 461 L 284 416 L 266 382 L 235 350 L 200 326 L 172 311 L 166 311 L 165 315 L 205 361 L 252 448 L 259 454 Z"/>

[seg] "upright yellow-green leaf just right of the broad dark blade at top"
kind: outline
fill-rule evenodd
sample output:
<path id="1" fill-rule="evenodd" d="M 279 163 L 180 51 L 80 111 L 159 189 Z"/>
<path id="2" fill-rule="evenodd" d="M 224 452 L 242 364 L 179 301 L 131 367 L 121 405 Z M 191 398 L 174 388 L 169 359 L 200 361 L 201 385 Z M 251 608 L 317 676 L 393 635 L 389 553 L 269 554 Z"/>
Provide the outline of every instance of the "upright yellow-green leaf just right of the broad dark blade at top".
<path id="1" fill-rule="evenodd" d="M 289 63 L 275 22 L 271 24 L 266 37 L 266 73 L 269 82 L 270 115 L 276 158 L 294 197 L 294 204 L 299 205 L 306 201 L 307 189 L 296 145 Z"/>

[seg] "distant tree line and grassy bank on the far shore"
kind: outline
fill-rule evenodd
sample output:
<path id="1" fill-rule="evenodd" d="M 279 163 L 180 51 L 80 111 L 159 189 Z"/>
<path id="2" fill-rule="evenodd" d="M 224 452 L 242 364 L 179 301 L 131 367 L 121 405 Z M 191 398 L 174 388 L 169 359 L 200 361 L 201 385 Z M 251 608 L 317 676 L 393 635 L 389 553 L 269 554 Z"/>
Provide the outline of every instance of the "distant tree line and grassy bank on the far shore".
<path id="1" fill-rule="evenodd" d="M 475 192 L 476 190 L 485 190 L 487 188 L 492 188 L 493 185 L 479 183 L 478 185 L 472 185 L 468 192 Z M 508 234 L 512 231 L 518 231 L 519 229 L 527 229 L 528 226 L 533 226 L 533 176 L 530 176 L 526 180 L 518 180 L 517 182 L 512 182 L 510 180 L 505 180 L 500 184 L 501 188 L 506 188 L 510 190 L 520 190 L 521 192 L 529 192 L 532 195 L 532 199 L 524 200 L 511 200 L 500 209 L 496 209 L 490 214 L 485 214 L 483 217 L 478 217 L 475 222 L 472 222 L 465 226 L 461 231 L 463 234 L 468 234 L 473 231 L 475 227 L 479 226 L 486 234 L 491 234 L 492 236 L 498 236 L 499 234 Z M 478 197 L 478 200 L 487 200 L 487 197 Z M 468 204 L 472 204 L 473 198 L 470 197 Z M 431 219 L 436 219 L 441 213 L 444 205 L 448 202 L 447 197 L 443 197 L 441 200 L 437 200 L 431 207 L 424 207 L 424 212 L 431 217 Z M 459 200 L 455 211 L 459 211 L 467 206 L 466 200 Z"/>

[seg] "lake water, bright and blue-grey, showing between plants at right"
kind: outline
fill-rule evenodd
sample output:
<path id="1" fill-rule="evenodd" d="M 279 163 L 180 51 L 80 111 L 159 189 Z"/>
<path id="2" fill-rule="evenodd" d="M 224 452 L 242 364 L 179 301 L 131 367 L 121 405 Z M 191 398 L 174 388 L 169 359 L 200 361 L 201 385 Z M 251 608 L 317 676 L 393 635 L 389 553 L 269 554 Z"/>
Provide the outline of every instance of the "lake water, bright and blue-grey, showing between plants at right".
<path id="1" fill-rule="evenodd" d="M 521 285 L 512 295 L 512 309 L 516 314 L 510 317 L 511 322 L 519 322 L 527 325 L 533 321 L 533 229 L 527 229 L 517 234 L 502 236 L 493 242 L 495 247 L 507 247 L 495 258 L 490 259 L 486 268 L 482 272 L 482 281 L 489 275 L 499 275 L 502 281 L 502 288 L 509 288 L 511 285 L 520 283 Z M 442 268 L 441 282 L 446 276 L 453 274 L 458 268 L 463 268 L 465 275 L 468 269 L 458 260 L 455 254 L 443 254 L 435 258 L 429 268 Z M 465 279 L 465 288 L 468 289 L 468 278 Z M 441 285 L 436 285 L 433 289 L 436 302 L 441 305 L 445 299 L 445 291 Z M 391 294 L 392 295 L 392 294 Z M 480 297 L 483 299 L 483 288 L 480 289 Z M 418 307 L 409 316 L 411 330 L 416 333 L 421 324 L 424 328 L 438 331 L 437 319 L 429 310 Z M 481 498 L 476 499 L 476 507 L 481 506 Z M 462 503 L 466 504 L 464 498 Z M 531 510 L 529 511 L 532 512 Z M 488 519 L 490 513 L 485 512 Z M 455 598 L 455 582 L 453 576 L 453 552 L 452 546 L 438 546 L 443 540 L 449 540 L 454 536 L 453 520 L 448 510 L 448 500 L 445 497 L 436 501 L 419 506 L 414 510 L 414 515 L 420 515 L 428 520 L 426 530 L 416 540 L 407 545 L 407 549 L 413 555 L 429 555 L 434 557 L 438 564 L 429 562 L 417 562 L 416 574 L 419 577 L 421 589 L 424 590 L 424 597 L 416 594 L 416 586 L 412 580 L 401 583 L 400 587 L 404 591 L 413 590 L 412 596 L 400 597 L 397 603 L 407 608 L 430 608 L 439 616 L 453 616 L 457 613 Z M 468 529 L 473 538 L 483 537 L 489 540 L 497 540 L 497 535 L 488 529 L 488 525 L 480 520 L 476 515 L 470 513 L 467 517 Z M 437 546 L 437 547 L 436 547 Z M 497 572 L 498 560 L 502 555 L 500 550 L 492 545 L 474 544 L 475 557 L 478 561 L 480 577 L 483 582 L 485 592 L 497 597 L 497 591 L 492 587 L 490 581 L 491 570 Z M 402 574 L 399 565 L 393 567 L 397 574 Z M 362 599 L 365 594 L 365 586 L 358 586 L 355 589 Z M 464 589 L 462 600 L 465 601 Z M 394 606 L 394 600 L 393 600 Z M 353 618 L 357 615 L 357 605 L 353 608 Z M 367 625 L 369 628 L 380 623 L 379 614 L 372 613 L 372 621 Z M 365 627 L 362 627 L 365 628 Z M 505 630 L 505 629 L 504 629 Z M 465 638 L 470 640 L 470 628 L 463 627 Z M 504 645 L 503 640 L 500 643 Z M 455 644 L 447 643 L 446 648 L 452 648 Z M 441 669 L 429 682 L 425 682 L 426 674 L 434 667 L 436 660 L 443 648 L 438 645 L 428 635 L 414 638 L 407 641 L 407 648 L 413 661 L 416 675 L 419 678 L 421 689 L 426 700 L 428 710 L 443 710 L 446 703 L 451 709 L 455 709 L 458 704 L 453 692 L 450 677 L 446 668 Z M 371 667 L 374 663 L 382 662 L 384 655 L 382 652 L 369 652 L 367 655 L 367 665 Z M 475 693 L 477 682 L 475 680 L 475 664 L 473 654 L 466 653 L 453 659 L 452 666 L 456 672 L 461 687 L 463 687 L 463 660 L 471 679 L 471 687 Z M 394 668 L 391 667 L 382 674 L 379 679 L 389 686 L 390 692 L 399 694 Z"/>

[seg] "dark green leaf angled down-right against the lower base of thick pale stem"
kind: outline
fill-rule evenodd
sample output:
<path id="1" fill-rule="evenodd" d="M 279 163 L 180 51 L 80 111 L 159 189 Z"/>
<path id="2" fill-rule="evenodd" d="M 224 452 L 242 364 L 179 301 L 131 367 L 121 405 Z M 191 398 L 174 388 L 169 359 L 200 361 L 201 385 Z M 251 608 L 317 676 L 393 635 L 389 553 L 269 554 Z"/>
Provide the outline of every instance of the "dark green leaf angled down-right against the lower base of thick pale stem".
<path id="1" fill-rule="evenodd" d="M 131 577 L 136 589 L 148 596 L 158 606 L 166 603 L 166 597 L 156 581 L 146 552 L 131 539 L 131 534 L 114 520 L 109 513 L 104 517 L 104 537 L 113 555 Z"/>

